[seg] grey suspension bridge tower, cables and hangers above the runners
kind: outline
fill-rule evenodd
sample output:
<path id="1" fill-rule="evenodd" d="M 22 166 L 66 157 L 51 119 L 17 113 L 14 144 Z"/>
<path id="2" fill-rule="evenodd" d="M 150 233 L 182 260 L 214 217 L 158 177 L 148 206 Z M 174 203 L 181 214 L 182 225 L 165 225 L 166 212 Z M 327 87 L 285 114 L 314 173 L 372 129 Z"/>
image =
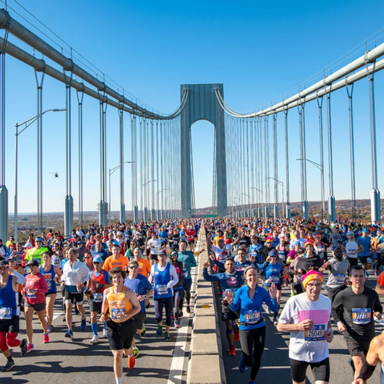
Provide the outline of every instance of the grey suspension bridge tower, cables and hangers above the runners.
<path id="1" fill-rule="evenodd" d="M 230 109 L 224 100 L 224 86 L 216 84 L 182 84 L 180 87 L 180 104 L 173 113 L 162 114 L 147 107 L 144 103 L 130 98 L 123 90 L 111 87 L 108 81 L 94 76 L 87 67 L 77 63 L 72 50 L 58 51 L 47 41 L 31 32 L 17 22 L 6 10 L 0 10 L 0 27 L 4 37 L 0 38 L 1 49 L 1 100 L 0 103 L 0 237 L 8 237 L 8 210 L 11 199 L 5 183 L 6 172 L 6 135 L 9 129 L 5 126 L 7 92 L 5 88 L 6 58 L 23 62 L 34 70 L 37 94 L 37 113 L 23 123 L 15 126 L 15 194 L 14 194 L 14 232 L 17 237 L 18 215 L 18 173 L 17 143 L 18 136 L 32 123 L 37 123 L 37 217 L 42 226 L 43 209 L 43 117 L 48 112 L 64 112 L 66 115 L 65 153 L 66 153 L 66 191 L 65 233 L 74 227 L 74 206 L 78 207 L 79 222 L 83 212 L 83 103 L 84 96 L 93 98 L 99 103 L 99 189 L 100 199 L 95 201 L 98 207 L 99 223 L 105 225 L 110 212 L 108 201 L 108 178 L 118 171 L 120 195 L 120 221 L 125 221 L 124 185 L 131 186 L 131 209 L 133 220 L 182 218 L 194 215 L 195 187 L 193 153 L 191 145 L 191 125 L 198 120 L 208 120 L 215 127 L 214 139 L 214 187 L 212 206 L 217 207 L 218 216 L 238 217 L 281 217 L 290 218 L 290 164 L 289 151 L 297 143 L 289 142 L 288 114 L 297 112 L 297 123 L 300 133 L 300 185 L 302 215 L 308 219 L 307 198 L 307 164 L 312 163 L 320 170 L 319 189 L 323 201 L 323 218 L 335 220 L 335 196 L 333 190 L 333 143 L 332 143 L 332 95 L 335 92 L 346 92 L 349 113 L 349 145 L 350 145 L 350 183 L 352 200 L 352 217 L 355 215 L 355 153 L 354 153 L 354 114 L 353 89 L 358 81 L 367 81 L 367 98 L 369 99 L 370 140 L 371 140 L 371 172 L 372 188 L 371 218 L 381 221 L 380 191 L 377 175 L 377 142 L 375 115 L 375 74 L 384 68 L 384 44 L 366 50 L 364 54 L 349 62 L 337 71 L 324 76 L 311 86 L 302 89 L 290 97 L 252 113 L 238 113 Z M 33 54 L 9 41 L 9 36 L 16 37 L 28 45 Z M 42 58 L 37 58 L 37 52 Z M 67 53 L 67 54 L 66 54 Z M 49 62 L 48 62 L 49 60 Z M 65 93 L 65 108 L 43 110 L 44 83 L 46 77 L 54 79 L 62 85 Z M 346 90 L 346 91 L 345 91 Z M 77 135 L 73 134 L 72 98 L 76 93 Z M 306 106 L 315 103 L 318 109 L 318 144 L 320 158 L 314 162 L 307 158 L 307 125 Z M 107 106 L 109 107 L 107 109 Z M 106 114 L 117 111 L 119 118 L 119 164 L 108 169 L 107 155 L 111 149 L 107 145 L 108 128 Z M 128 125 L 128 129 L 127 129 Z M 278 126 L 284 127 L 285 135 L 285 175 L 278 173 Z M 325 131 L 325 132 L 324 132 Z M 124 135 L 130 135 L 131 148 L 126 156 Z M 326 143 L 323 142 L 324 134 Z M 313 135 L 313 133 L 312 133 Z M 73 199 L 73 141 L 78 141 L 78 201 Z M 328 157 L 328 172 L 325 169 L 324 156 Z M 131 180 L 124 180 L 124 166 L 130 164 Z M 272 171 L 271 171 L 272 168 Z M 328 177 L 329 191 L 325 190 L 325 177 Z M 283 180 L 280 180 L 283 179 Z M 272 182 L 272 188 L 271 188 Z M 272 189 L 272 190 L 271 190 Z M 367 191 L 368 193 L 368 191 Z M 279 209 L 281 194 L 282 208 Z M 111 194 L 110 194 L 111 195 Z M 328 209 L 326 209 L 328 200 Z"/>

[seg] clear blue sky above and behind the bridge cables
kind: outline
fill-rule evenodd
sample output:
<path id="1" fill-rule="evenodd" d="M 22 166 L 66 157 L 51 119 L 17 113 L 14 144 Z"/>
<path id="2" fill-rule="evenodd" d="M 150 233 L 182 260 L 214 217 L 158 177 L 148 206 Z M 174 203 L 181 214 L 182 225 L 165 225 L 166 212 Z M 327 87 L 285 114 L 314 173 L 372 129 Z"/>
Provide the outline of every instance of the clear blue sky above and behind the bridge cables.
<path id="1" fill-rule="evenodd" d="M 52 2 L 19 0 L 38 19 L 86 57 L 120 87 L 164 113 L 180 102 L 180 84 L 224 83 L 226 103 L 238 112 L 260 109 L 282 100 L 282 95 L 323 69 L 383 27 L 384 4 L 373 10 L 363 1 L 330 2 L 131 2 L 98 0 Z M 8 5 L 38 25 L 13 0 Z M 25 20 L 12 17 L 40 35 Z M 368 17 L 369 16 L 369 17 Z M 384 42 L 378 34 L 377 44 Z M 58 39 L 52 36 L 55 41 Z M 10 41 L 31 52 L 23 42 Z M 63 45 L 66 49 L 68 46 Z M 58 48 L 57 45 L 54 45 Z M 363 46 L 359 46 L 362 48 Z M 370 46 L 372 48 L 372 46 Z M 355 52 L 355 51 L 353 51 Z M 362 55 L 353 54 L 348 61 Z M 37 57 L 41 57 L 36 53 Z M 49 60 L 47 60 L 49 62 Z M 340 68 L 340 64 L 334 69 Z M 384 71 L 383 71 L 384 72 Z M 329 73 L 329 70 L 328 70 Z M 100 74 L 100 72 L 99 72 Z M 9 210 L 13 211 L 14 124 L 36 114 L 33 70 L 7 57 L 7 163 Z M 321 75 L 314 80 L 319 80 Z M 312 80 L 312 82 L 314 82 Z M 309 85 L 311 82 L 308 82 Z M 384 139 L 384 73 L 375 77 L 378 157 Z M 73 100 L 73 190 L 77 210 L 77 100 Z M 44 81 L 43 109 L 62 108 L 65 87 L 48 76 Z M 371 190 L 369 104 L 367 79 L 354 89 L 356 197 Z M 99 201 L 98 102 L 84 96 L 84 210 L 96 210 Z M 291 201 L 300 200 L 298 114 L 288 114 L 290 135 Z M 125 159 L 130 160 L 129 115 L 125 114 Z M 118 113 L 108 107 L 108 168 L 119 163 Z M 325 116 L 324 116 L 325 119 Z M 319 162 L 317 104 L 306 106 L 308 158 Z M 334 135 L 334 194 L 350 198 L 348 99 L 345 89 L 332 95 Z M 44 117 L 44 210 L 63 211 L 65 197 L 65 114 Z M 326 126 L 325 126 L 326 128 Z M 284 117 L 278 116 L 279 178 L 285 180 Z M 36 211 L 36 127 L 19 137 L 19 212 Z M 211 205 L 213 126 L 200 121 L 192 128 L 196 206 Z M 324 140 L 326 143 L 326 129 Z M 272 140 L 270 140 L 272 143 Z M 116 149 L 115 149 L 116 148 Z M 199 150 L 197 150 L 199 148 Z M 206 157 L 201 156 L 207 154 Z M 272 151 L 270 150 L 270 153 Z M 210 155 L 211 154 L 211 155 Z M 327 152 L 324 153 L 328 169 Z M 272 162 L 271 162 L 272 165 Z M 54 179 L 51 172 L 58 172 Z M 271 167 L 272 175 L 272 167 Z M 384 186 L 380 177 L 379 188 Z M 130 168 L 125 170 L 125 204 L 131 209 Z M 328 176 L 326 195 L 328 196 Z M 308 199 L 320 199 L 319 171 L 308 164 Z M 119 206 L 118 173 L 112 176 L 112 209 Z M 273 194 L 272 194 L 273 196 Z"/>

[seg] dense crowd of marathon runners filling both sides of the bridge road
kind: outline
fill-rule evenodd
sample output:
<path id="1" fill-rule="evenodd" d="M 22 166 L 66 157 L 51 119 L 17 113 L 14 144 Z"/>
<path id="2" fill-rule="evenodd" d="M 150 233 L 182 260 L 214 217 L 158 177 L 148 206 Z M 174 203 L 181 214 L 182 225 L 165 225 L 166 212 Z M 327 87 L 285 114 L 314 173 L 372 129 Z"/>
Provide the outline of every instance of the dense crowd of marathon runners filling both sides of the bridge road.
<path id="1" fill-rule="evenodd" d="M 199 219 L 90 225 L 66 239 L 49 231 L 36 238 L 31 233 L 23 245 L 12 237 L 6 244 L 0 240 L 3 371 L 15 364 L 10 347 L 13 355 L 17 347 L 22 356 L 34 350 L 34 315 L 42 342 L 49 343 L 61 290 L 67 324 L 62 336 L 74 337 L 72 315 L 79 313 L 81 330 L 92 330 L 91 344 L 108 338 L 120 383 L 123 356 L 129 369 L 135 366 L 135 337 L 145 337 L 146 309 L 154 306 L 156 333 L 165 342 L 171 340 L 171 328 L 180 327 L 183 311 L 191 312 L 190 269 L 205 250 L 195 247 L 201 225 Z M 250 368 L 251 384 L 268 346 L 268 315 L 278 331 L 290 333 L 293 383 L 305 383 L 308 367 L 316 384 L 330 382 L 328 344 L 334 332 L 343 334 L 353 383 L 366 382 L 384 358 L 384 335 L 375 337 L 374 328 L 382 313 L 379 295 L 384 294 L 379 225 L 234 218 L 205 219 L 203 225 L 208 251 L 208 258 L 200 260 L 203 277 L 218 285 L 228 355 L 236 355 L 240 342 L 238 368 L 240 373 Z M 369 275 L 378 277 L 375 290 L 365 285 Z M 283 289 L 291 297 L 281 308 Z M 22 312 L 27 337 L 19 340 Z M 382 373 L 380 380 L 384 384 Z"/>

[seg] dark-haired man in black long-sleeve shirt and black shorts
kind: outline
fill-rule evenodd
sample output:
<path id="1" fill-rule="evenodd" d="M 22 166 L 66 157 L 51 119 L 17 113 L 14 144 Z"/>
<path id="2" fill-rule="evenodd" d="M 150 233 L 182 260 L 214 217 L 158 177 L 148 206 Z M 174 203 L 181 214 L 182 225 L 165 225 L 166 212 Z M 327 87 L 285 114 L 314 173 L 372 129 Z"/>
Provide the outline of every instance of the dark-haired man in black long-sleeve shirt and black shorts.
<path id="1" fill-rule="evenodd" d="M 373 316 L 381 319 L 382 306 L 378 294 L 364 286 L 366 278 L 361 266 L 351 267 L 349 275 L 352 286 L 337 293 L 332 304 L 332 316 L 338 330 L 344 333 L 356 379 L 364 364 L 369 343 L 375 336 Z"/>

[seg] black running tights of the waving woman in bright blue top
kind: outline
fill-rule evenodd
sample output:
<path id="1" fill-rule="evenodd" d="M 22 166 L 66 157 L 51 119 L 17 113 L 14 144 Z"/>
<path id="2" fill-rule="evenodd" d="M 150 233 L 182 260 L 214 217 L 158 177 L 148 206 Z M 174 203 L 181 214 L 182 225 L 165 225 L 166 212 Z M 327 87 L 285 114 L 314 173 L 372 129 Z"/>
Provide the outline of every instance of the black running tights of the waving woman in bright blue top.
<path id="1" fill-rule="evenodd" d="M 265 345 L 266 327 L 240 330 L 240 344 L 244 355 L 244 364 L 251 367 L 250 379 L 254 380 L 260 370 Z"/>

